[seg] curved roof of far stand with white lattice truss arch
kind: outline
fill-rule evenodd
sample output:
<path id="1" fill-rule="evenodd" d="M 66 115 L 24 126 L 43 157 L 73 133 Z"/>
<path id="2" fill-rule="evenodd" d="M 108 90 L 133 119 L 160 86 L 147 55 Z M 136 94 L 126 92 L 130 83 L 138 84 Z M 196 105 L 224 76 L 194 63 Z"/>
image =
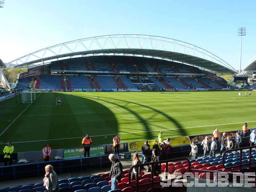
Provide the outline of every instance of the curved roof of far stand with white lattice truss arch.
<path id="1" fill-rule="evenodd" d="M 59 58 L 99 54 L 149 56 L 177 61 L 217 73 L 236 73 L 227 62 L 195 45 L 166 37 L 131 34 L 96 36 L 53 45 L 13 60 L 6 66 L 12 68 L 39 65 Z"/>

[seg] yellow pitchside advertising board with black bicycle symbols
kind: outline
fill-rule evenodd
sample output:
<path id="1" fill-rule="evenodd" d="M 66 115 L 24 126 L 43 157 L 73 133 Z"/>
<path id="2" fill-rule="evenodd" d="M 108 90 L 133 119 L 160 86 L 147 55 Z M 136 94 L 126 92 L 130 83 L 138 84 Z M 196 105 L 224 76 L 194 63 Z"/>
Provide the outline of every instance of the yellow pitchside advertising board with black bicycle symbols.
<path id="1" fill-rule="evenodd" d="M 191 144 L 191 141 L 188 136 L 185 137 L 173 137 L 170 138 L 171 146 L 179 146 L 179 145 L 189 145 Z M 148 140 L 148 145 L 150 146 L 150 149 L 153 148 L 153 145 L 155 144 L 156 140 Z M 129 152 L 132 151 L 140 151 L 142 145 L 144 145 L 145 141 L 133 141 L 133 142 L 128 142 L 128 148 Z"/>

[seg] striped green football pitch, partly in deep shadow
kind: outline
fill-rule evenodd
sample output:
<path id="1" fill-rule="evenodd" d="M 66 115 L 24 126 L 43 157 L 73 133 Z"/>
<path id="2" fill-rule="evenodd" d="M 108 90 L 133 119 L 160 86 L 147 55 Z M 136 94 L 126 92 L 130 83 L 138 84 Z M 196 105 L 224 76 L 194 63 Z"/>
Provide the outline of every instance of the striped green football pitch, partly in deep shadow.
<path id="1" fill-rule="evenodd" d="M 62 104 L 56 105 L 61 97 Z M 20 96 L 0 102 L 0 148 L 11 141 L 15 151 L 92 145 L 256 128 L 256 92 L 245 97 L 225 92 L 38 92 L 33 103 Z"/>

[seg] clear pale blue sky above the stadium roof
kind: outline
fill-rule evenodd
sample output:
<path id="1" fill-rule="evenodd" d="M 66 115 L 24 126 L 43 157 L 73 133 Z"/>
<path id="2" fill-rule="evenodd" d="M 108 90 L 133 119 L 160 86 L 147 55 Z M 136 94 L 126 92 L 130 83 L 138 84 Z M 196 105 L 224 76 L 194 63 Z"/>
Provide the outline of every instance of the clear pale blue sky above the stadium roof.
<path id="1" fill-rule="evenodd" d="M 112 34 L 163 36 L 194 44 L 242 69 L 256 55 L 256 1 L 5 0 L 0 8 L 0 58 L 80 38 Z"/>

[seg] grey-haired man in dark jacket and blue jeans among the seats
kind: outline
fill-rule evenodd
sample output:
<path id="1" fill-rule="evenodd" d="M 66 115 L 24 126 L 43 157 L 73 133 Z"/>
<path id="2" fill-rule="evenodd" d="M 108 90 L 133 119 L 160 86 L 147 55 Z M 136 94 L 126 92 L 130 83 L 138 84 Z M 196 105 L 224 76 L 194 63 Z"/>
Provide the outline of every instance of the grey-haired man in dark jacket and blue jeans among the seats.
<path id="1" fill-rule="evenodd" d="M 111 178 L 111 190 L 114 190 L 117 189 L 117 184 L 121 181 L 123 165 L 114 154 L 110 154 L 108 159 L 112 162 L 109 177 Z"/>

